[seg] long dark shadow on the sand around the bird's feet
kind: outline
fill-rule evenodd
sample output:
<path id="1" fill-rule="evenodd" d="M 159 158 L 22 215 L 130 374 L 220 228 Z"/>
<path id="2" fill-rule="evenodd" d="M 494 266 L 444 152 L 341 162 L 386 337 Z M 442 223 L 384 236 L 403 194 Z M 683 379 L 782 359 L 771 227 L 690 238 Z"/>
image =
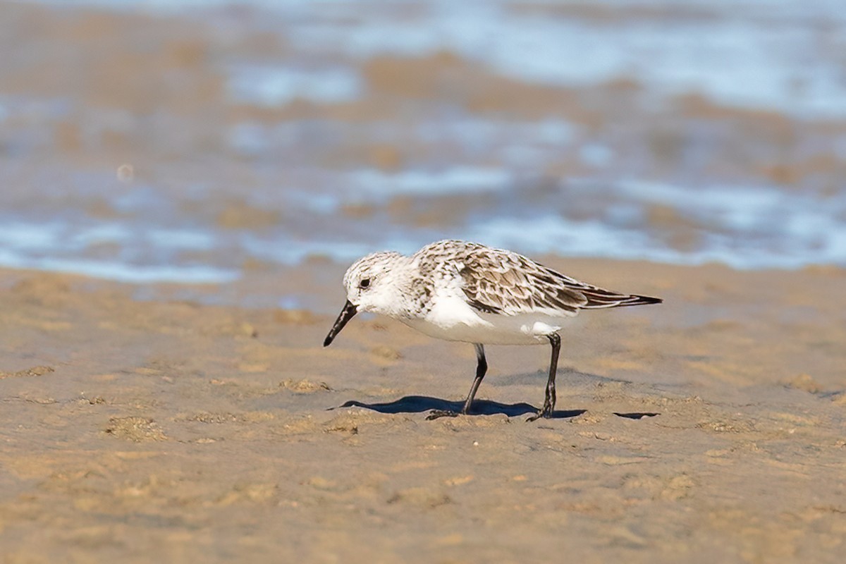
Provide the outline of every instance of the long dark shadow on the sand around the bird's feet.
<path id="1" fill-rule="evenodd" d="M 450 402 L 439 397 L 429 396 L 406 396 L 400 397 L 393 402 L 382 403 L 365 403 L 356 400 L 349 400 L 339 405 L 338 408 L 365 408 L 372 409 L 379 413 L 422 413 L 424 411 L 439 410 L 439 411 L 461 411 L 464 407 L 464 402 Z M 330 408 L 336 409 L 336 408 Z M 587 409 L 563 409 L 552 412 L 552 419 L 569 419 L 571 417 L 578 417 L 585 413 Z M 470 410 L 470 415 L 496 415 L 503 413 L 508 417 L 519 417 L 527 413 L 537 413 L 538 409 L 528 403 L 500 403 L 492 402 L 486 399 L 476 399 L 473 401 L 473 408 Z"/>

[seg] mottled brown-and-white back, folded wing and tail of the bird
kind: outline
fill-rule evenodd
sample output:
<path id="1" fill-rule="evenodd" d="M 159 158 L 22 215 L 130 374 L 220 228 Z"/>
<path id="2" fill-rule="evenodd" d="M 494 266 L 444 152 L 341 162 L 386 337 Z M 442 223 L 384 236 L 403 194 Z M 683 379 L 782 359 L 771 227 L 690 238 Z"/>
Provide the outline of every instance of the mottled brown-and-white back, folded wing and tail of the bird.
<path id="1" fill-rule="evenodd" d="M 564 276 L 508 250 L 439 241 L 417 253 L 422 274 L 458 269 L 471 307 L 485 313 L 576 315 L 579 309 L 660 304 L 660 298 L 615 293 Z M 456 265 L 459 266 L 456 266 Z"/>

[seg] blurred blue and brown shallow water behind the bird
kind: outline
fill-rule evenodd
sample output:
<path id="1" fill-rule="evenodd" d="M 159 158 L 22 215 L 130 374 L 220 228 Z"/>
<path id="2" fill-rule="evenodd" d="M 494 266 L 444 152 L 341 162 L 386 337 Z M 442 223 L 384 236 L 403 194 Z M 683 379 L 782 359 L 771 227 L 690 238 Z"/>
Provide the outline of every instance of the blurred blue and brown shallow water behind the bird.
<path id="1" fill-rule="evenodd" d="M 846 266 L 841 0 L 3 2 L 0 52 L 0 266 Z M 205 299 L 322 308 L 283 286 Z"/>

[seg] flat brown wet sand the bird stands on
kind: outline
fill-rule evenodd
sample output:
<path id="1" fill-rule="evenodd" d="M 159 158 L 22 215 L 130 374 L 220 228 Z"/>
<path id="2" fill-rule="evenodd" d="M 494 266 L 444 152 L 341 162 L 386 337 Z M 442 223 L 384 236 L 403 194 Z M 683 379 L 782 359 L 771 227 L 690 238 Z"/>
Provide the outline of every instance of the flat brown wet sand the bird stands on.
<path id="1" fill-rule="evenodd" d="M 580 315 L 536 423 L 546 347 L 427 421 L 469 345 L 0 271 L 3 561 L 838 561 L 846 273 L 546 262 L 666 303 Z"/>

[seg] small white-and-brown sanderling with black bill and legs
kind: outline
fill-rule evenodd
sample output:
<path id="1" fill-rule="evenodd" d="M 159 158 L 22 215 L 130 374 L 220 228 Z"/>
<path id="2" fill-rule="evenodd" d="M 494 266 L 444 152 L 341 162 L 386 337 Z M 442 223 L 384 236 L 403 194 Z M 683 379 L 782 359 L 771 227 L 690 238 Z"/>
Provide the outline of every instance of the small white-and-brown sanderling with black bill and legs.
<path id="1" fill-rule="evenodd" d="M 650 298 L 603 290 L 564 276 L 508 250 L 465 241 L 438 241 L 414 255 L 392 251 L 358 260 L 343 275 L 347 303 L 323 346 L 359 311 L 387 315 L 430 337 L 471 342 L 476 373 L 460 413 L 470 412 L 485 377 L 485 345 L 549 342 L 547 393 L 543 407 L 529 421 L 551 417 L 555 408 L 555 373 L 561 337 L 558 331 L 580 309 L 660 304 Z M 433 411 L 426 419 L 459 415 Z"/>

